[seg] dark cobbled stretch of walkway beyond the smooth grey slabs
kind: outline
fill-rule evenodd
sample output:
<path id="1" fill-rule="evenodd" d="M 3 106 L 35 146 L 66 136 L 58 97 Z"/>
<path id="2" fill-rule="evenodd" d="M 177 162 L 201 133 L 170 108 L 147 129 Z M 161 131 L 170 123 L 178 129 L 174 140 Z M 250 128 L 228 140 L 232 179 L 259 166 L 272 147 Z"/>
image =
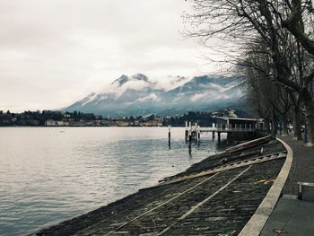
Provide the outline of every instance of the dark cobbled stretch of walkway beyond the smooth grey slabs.
<path id="1" fill-rule="evenodd" d="M 291 136 L 280 136 L 293 151 L 293 162 L 283 194 L 298 195 L 298 182 L 314 183 L 314 148 L 306 148 L 303 141 L 294 141 Z"/>

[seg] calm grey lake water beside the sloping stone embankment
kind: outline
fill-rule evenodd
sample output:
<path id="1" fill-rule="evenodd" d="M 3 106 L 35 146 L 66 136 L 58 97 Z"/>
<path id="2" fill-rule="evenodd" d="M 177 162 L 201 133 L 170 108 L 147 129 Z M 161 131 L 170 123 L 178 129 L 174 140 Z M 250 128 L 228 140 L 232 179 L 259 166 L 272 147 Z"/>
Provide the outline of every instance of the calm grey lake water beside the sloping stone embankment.
<path id="1" fill-rule="evenodd" d="M 0 128 L 0 235 L 34 232 L 186 170 L 216 151 L 208 135 L 188 147 L 184 129 Z"/>

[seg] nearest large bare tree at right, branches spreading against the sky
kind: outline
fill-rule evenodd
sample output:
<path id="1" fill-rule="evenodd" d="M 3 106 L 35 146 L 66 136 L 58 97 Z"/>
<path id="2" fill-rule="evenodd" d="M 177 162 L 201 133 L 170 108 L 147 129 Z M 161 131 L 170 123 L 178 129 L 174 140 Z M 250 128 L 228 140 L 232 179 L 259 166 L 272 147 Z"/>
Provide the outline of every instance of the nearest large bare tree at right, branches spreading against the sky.
<path id="1" fill-rule="evenodd" d="M 257 36 L 262 40 L 266 45 L 266 51 L 270 53 L 275 83 L 281 84 L 287 92 L 298 94 L 306 110 L 306 118 L 309 122 L 308 146 L 313 146 L 314 102 L 309 88 L 314 78 L 314 69 L 304 70 L 302 68 L 302 74 L 299 72 L 296 80 L 293 70 L 300 69 L 298 66 L 292 65 L 290 58 L 291 53 L 288 49 L 293 44 L 286 44 L 287 40 L 292 42 L 293 38 L 299 47 L 311 52 L 312 40 L 309 35 L 304 33 L 304 22 L 306 22 L 304 18 L 310 21 L 311 15 L 310 13 L 302 14 L 301 1 L 292 0 L 292 3 L 289 0 L 191 1 L 195 13 L 188 15 L 188 20 L 196 28 L 189 31 L 190 36 L 198 37 L 204 43 L 208 42 L 208 39 L 218 37 L 233 40 L 235 44 L 242 46 L 256 39 Z M 309 6 L 310 4 L 304 5 Z M 295 21 L 298 22 L 298 27 L 293 26 Z M 310 29 L 310 27 L 308 28 Z M 301 64 L 303 63 L 304 61 L 301 61 Z"/>

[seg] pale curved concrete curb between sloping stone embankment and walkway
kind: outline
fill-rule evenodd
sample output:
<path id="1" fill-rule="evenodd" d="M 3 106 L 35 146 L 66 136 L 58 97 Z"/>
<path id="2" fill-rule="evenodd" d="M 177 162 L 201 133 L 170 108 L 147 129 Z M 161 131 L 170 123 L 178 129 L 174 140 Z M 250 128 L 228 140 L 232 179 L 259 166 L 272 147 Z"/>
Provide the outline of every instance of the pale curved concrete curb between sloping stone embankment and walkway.
<path id="1" fill-rule="evenodd" d="M 283 140 L 276 138 L 280 143 L 283 144 L 284 148 L 287 150 L 287 157 L 283 164 L 282 170 L 275 179 L 273 186 L 269 189 L 266 197 L 260 205 L 258 205 L 257 211 L 250 218 L 249 222 L 244 226 L 239 236 L 258 236 L 263 230 L 270 214 L 272 214 L 275 205 L 280 197 L 283 186 L 286 179 L 288 178 L 289 171 L 292 166 L 292 156 L 293 152 L 291 147 L 284 143 Z"/>

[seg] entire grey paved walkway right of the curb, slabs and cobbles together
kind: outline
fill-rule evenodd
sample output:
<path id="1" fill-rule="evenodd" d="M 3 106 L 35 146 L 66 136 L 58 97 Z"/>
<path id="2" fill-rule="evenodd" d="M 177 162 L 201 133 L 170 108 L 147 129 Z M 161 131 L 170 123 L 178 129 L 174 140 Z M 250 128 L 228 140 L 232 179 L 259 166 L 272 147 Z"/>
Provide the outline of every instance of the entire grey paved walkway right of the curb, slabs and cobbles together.
<path id="1" fill-rule="evenodd" d="M 314 202 L 297 199 L 297 183 L 314 183 L 314 148 L 303 147 L 302 141 L 292 136 L 280 137 L 293 151 L 292 169 L 277 203 L 260 236 L 314 235 Z"/>

